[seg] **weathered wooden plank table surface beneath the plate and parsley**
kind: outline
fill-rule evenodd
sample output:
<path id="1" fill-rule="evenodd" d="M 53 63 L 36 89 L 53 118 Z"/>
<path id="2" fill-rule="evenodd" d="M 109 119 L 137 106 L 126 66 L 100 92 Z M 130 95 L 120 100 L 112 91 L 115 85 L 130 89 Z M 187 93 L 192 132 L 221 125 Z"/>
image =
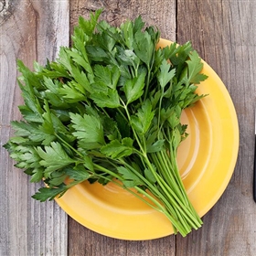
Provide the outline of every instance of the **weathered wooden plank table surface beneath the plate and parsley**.
<path id="1" fill-rule="evenodd" d="M 20 118 L 16 59 L 32 68 L 55 59 L 69 45 L 78 16 L 104 7 L 103 18 L 119 25 L 142 15 L 161 36 L 191 40 L 200 56 L 227 86 L 240 123 L 240 152 L 223 196 L 203 218 L 204 226 L 186 238 L 126 241 L 86 229 L 54 202 L 31 198 L 30 184 L 13 167 L 2 144 Z M 0 255 L 1 256 L 252 256 L 256 255 L 256 204 L 251 194 L 256 100 L 256 8 L 254 0 L 1 0 L 0 1 Z"/>

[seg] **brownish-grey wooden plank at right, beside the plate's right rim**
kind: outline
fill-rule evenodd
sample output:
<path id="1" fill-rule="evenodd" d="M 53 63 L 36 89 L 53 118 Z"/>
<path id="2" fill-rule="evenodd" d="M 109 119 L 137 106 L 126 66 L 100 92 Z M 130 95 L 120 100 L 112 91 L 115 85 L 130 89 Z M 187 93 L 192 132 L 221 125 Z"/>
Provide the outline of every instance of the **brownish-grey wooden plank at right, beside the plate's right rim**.
<path id="1" fill-rule="evenodd" d="M 224 195 L 204 217 L 202 229 L 186 239 L 177 239 L 176 255 L 236 256 L 254 255 L 256 251 L 256 211 L 252 200 L 254 5 L 252 0 L 178 1 L 177 40 L 191 40 L 227 86 L 240 122 L 240 154 Z"/>

